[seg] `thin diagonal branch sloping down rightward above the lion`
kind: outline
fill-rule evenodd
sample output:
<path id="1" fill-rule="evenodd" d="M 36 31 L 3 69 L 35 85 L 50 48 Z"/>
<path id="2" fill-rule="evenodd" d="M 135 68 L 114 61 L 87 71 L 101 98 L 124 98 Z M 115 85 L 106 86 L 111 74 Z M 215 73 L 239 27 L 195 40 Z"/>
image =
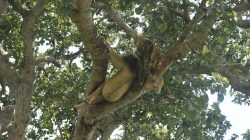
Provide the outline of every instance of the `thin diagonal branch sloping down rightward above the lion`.
<path id="1" fill-rule="evenodd" d="M 93 6 L 103 9 L 109 15 L 109 18 L 115 21 L 118 26 L 120 26 L 128 35 L 130 35 L 136 41 L 138 40 L 138 38 L 140 37 L 138 33 L 122 20 L 122 17 L 117 12 L 115 12 L 111 5 L 94 2 Z"/>

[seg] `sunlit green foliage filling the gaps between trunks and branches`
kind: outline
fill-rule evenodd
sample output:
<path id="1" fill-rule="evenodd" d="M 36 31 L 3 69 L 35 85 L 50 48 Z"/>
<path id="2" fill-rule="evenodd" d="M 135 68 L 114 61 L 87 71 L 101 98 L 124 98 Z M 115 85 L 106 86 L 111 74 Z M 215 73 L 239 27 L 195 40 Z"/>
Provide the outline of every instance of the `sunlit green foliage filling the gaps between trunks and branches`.
<path id="1" fill-rule="evenodd" d="M 107 0 L 104 0 L 104 2 Z M 176 45 L 185 20 L 172 9 L 183 11 L 183 2 L 174 0 L 107 1 L 133 29 L 143 32 L 155 46 L 166 51 Z M 33 1 L 26 1 L 32 6 Z M 121 139 L 223 139 L 230 122 L 221 114 L 219 103 L 223 101 L 230 81 L 218 70 L 220 65 L 248 63 L 249 31 L 236 26 L 232 10 L 238 1 L 228 0 L 220 10 L 204 46 L 192 50 L 176 61 L 164 75 L 165 85 L 160 94 L 148 93 L 118 113 L 124 130 Z M 61 67 L 41 64 L 36 67 L 31 121 L 27 139 L 67 139 L 73 129 L 76 113 L 73 106 L 83 100 L 83 91 L 91 71 L 91 58 L 83 48 L 76 27 L 69 19 L 70 1 L 50 1 L 36 22 L 36 57 L 53 56 Z M 199 8 L 193 1 L 187 9 L 191 14 Z M 210 7 L 208 10 L 216 9 Z M 100 9 L 101 10 L 101 9 Z M 135 43 L 107 15 L 93 10 L 93 18 L 100 36 L 121 53 L 131 52 Z M 204 17 L 206 18 L 206 17 Z M 0 43 L 11 56 L 15 68 L 22 67 L 22 40 L 20 26 L 23 20 L 13 8 L 9 8 L 0 23 Z M 222 19 L 222 20 L 221 20 Z M 205 50 L 204 50 L 205 49 Z M 82 50 L 81 55 L 70 57 Z M 228 63 L 221 63 L 223 58 Z M 209 66 L 213 73 L 201 74 L 193 66 Z M 245 75 L 249 69 L 230 69 L 235 75 Z M 247 81 L 247 80 L 246 80 Z M 249 81 L 247 81 L 249 82 Z M 208 105 L 208 92 L 218 95 L 218 101 Z M 235 102 L 249 104 L 249 97 L 233 91 Z M 1 95 L 1 94 L 0 94 Z M 10 93 L 0 96 L 0 105 L 14 104 Z M 243 135 L 249 139 L 249 131 Z M 1 135 L 0 139 L 5 138 Z M 236 136 L 231 139 L 235 139 Z"/>

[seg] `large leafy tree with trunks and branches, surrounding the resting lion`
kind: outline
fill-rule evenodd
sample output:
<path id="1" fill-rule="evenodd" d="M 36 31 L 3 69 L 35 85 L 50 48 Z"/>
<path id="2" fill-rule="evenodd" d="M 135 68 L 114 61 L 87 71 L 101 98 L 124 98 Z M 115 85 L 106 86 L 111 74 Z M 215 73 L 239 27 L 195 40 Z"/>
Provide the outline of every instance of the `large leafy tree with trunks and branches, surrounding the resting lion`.
<path id="1" fill-rule="evenodd" d="M 223 139 L 227 90 L 249 104 L 247 1 L 0 0 L 0 7 L 1 139 L 105 140 L 119 126 L 122 139 Z M 76 113 L 115 73 L 109 45 L 135 51 L 136 80 L 117 102 Z M 143 89 L 156 48 L 159 94 Z M 211 108 L 208 92 L 218 95 Z"/>

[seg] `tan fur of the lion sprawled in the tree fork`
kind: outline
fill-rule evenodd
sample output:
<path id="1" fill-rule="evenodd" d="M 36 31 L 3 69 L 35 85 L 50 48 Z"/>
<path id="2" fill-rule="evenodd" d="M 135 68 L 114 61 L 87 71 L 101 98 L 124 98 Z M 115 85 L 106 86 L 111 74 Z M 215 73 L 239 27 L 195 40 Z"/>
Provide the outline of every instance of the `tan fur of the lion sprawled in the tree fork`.
<path id="1" fill-rule="evenodd" d="M 101 84 L 85 99 L 85 102 L 75 106 L 77 112 L 84 110 L 88 104 L 98 104 L 103 101 L 115 102 L 119 100 L 134 82 L 136 77 L 135 70 L 131 70 L 127 62 L 125 62 L 110 46 L 108 47 L 111 62 L 113 66 L 118 69 L 118 72 Z M 147 77 L 143 87 L 146 91 L 156 90 L 160 92 L 164 85 L 163 79 L 161 78 L 162 75 L 160 74 L 160 71 L 162 71 L 162 58 L 163 56 L 160 50 L 154 49 L 150 62 L 151 73 Z"/>

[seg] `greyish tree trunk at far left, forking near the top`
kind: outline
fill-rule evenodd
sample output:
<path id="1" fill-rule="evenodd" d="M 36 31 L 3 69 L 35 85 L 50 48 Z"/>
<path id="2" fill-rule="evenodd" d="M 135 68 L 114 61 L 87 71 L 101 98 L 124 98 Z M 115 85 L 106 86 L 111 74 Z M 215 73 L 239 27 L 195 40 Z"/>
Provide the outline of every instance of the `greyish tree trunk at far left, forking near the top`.
<path id="1" fill-rule="evenodd" d="M 0 75 L 4 75 L 10 91 L 14 92 L 15 113 L 13 123 L 8 133 L 9 140 L 23 140 L 25 138 L 26 128 L 30 120 L 30 107 L 33 94 L 33 83 L 35 77 L 35 58 L 34 58 L 34 39 L 35 22 L 42 12 L 47 0 L 37 1 L 33 9 L 28 9 L 24 5 L 13 0 L 8 1 L 10 5 L 23 17 L 21 26 L 21 35 L 23 40 L 23 67 L 16 70 L 11 68 L 8 58 L 0 55 Z M 3 66 L 3 67 L 2 67 Z M 13 93 L 12 93 L 13 94 Z"/>

